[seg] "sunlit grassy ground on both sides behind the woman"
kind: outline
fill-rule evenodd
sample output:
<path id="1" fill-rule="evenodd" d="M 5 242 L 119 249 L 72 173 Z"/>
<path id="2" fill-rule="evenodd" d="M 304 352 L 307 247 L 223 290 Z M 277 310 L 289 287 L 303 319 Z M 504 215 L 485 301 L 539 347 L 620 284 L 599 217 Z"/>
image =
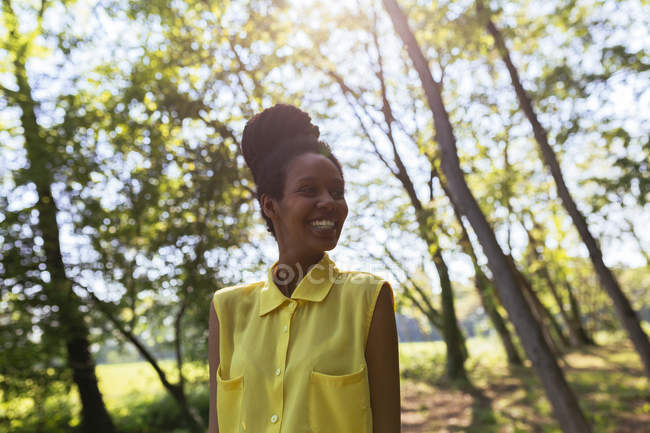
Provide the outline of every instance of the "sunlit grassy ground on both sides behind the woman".
<path id="1" fill-rule="evenodd" d="M 650 386 L 640 361 L 622 334 L 597 336 L 598 347 L 564 356 L 562 365 L 580 404 L 597 433 L 650 431 Z M 473 388 L 459 390 L 444 379 L 441 342 L 400 344 L 402 431 L 408 433 L 560 432 L 544 391 L 529 368 L 509 368 L 498 341 L 468 342 L 467 363 Z M 175 380 L 174 365 L 162 362 Z M 208 411 L 207 365 L 187 365 L 191 404 Z M 100 365 L 100 387 L 120 432 L 184 432 L 174 401 L 146 363 Z M 50 428 L 72 431 L 79 422 L 73 392 L 50 399 L 45 412 Z M 16 418 L 12 431 L 30 432 L 20 418 L 34 411 L 30 401 L 0 405 L 0 414 Z"/>

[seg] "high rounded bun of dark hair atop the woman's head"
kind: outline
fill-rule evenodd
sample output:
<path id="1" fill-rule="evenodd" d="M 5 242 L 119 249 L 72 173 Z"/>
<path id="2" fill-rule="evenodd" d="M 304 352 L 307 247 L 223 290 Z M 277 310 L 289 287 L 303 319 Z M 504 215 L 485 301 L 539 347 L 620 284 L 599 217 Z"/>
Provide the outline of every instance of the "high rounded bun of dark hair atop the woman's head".
<path id="1" fill-rule="evenodd" d="M 282 142 L 299 136 L 320 136 L 309 114 L 293 105 L 276 104 L 253 116 L 244 127 L 241 150 L 256 177 L 258 166 Z"/>

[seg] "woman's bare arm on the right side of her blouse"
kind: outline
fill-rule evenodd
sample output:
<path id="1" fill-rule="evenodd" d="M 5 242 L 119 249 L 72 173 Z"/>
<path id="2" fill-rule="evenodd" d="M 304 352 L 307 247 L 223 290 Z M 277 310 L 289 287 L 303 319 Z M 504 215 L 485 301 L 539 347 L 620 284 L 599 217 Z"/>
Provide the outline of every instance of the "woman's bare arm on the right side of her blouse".
<path id="1" fill-rule="evenodd" d="M 366 344 L 373 433 L 399 433 L 401 408 L 397 326 L 390 292 L 379 292 Z"/>

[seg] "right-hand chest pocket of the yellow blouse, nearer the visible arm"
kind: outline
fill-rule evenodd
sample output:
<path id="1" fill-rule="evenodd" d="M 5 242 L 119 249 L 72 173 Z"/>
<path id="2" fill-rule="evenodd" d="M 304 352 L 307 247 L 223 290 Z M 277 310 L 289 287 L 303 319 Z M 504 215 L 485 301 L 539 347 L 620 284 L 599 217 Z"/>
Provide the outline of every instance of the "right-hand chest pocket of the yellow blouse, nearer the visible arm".
<path id="1" fill-rule="evenodd" d="M 342 376 L 312 371 L 309 425 L 314 433 L 370 433 L 372 417 L 365 366 Z"/>

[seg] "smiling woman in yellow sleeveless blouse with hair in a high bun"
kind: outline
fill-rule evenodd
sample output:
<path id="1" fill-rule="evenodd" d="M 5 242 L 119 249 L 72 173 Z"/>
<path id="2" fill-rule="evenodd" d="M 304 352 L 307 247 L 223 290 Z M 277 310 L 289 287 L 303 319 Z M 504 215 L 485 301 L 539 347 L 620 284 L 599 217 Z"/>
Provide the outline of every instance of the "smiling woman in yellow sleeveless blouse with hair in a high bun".
<path id="1" fill-rule="evenodd" d="M 326 251 L 348 213 L 341 164 L 309 115 L 275 105 L 242 152 L 278 260 L 210 308 L 209 433 L 397 433 L 399 366 L 388 282 Z"/>

